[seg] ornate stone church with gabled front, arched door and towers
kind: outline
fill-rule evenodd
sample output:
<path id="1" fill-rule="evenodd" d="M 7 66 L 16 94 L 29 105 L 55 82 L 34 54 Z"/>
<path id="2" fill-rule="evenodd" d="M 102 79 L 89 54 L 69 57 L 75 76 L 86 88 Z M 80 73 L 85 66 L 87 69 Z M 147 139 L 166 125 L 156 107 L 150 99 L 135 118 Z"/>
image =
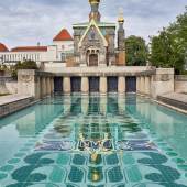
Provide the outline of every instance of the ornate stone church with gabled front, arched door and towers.
<path id="1" fill-rule="evenodd" d="M 116 23 L 101 22 L 100 0 L 89 0 L 89 22 L 74 24 L 74 52 L 78 66 L 125 65 L 124 19 L 119 18 L 118 50 Z"/>

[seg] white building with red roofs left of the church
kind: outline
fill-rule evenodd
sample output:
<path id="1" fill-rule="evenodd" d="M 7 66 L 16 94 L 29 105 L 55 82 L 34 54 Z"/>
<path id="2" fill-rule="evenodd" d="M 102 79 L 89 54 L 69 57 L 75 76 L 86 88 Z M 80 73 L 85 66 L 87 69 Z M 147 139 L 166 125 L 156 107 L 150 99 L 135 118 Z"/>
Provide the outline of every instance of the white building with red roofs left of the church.
<path id="1" fill-rule="evenodd" d="M 9 50 L 0 44 L 0 64 L 14 65 L 18 62 L 35 61 L 36 63 L 62 63 L 66 65 L 68 56 L 74 54 L 74 40 L 69 32 L 63 29 L 48 46 L 18 46 Z"/>

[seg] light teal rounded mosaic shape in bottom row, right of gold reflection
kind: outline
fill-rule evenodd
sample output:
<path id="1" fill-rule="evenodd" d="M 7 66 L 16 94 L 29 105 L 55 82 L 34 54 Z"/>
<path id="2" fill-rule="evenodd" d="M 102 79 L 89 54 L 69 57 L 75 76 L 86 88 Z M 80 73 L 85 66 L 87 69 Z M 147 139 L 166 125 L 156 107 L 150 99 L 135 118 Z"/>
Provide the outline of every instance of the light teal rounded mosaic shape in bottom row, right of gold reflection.
<path id="1" fill-rule="evenodd" d="M 142 180 L 142 175 L 138 166 L 132 166 L 131 168 L 128 168 L 127 174 L 130 182 L 135 183 Z"/>

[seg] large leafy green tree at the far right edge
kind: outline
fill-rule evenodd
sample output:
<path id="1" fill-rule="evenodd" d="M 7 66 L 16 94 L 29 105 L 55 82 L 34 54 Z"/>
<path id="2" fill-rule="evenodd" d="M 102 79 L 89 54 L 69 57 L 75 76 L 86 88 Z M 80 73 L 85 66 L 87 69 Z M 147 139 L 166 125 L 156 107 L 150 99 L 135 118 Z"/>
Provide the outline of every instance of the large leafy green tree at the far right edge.
<path id="1" fill-rule="evenodd" d="M 174 67 L 176 74 L 182 74 L 187 61 L 187 9 L 176 22 L 151 40 L 152 65 Z"/>

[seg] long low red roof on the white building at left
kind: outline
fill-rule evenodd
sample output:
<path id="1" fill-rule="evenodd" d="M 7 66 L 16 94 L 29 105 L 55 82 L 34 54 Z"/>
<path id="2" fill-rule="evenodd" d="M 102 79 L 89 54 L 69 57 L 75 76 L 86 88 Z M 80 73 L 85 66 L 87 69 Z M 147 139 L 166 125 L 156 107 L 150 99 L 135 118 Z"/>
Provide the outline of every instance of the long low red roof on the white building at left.
<path id="1" fill-rule="evenodd" d="M 47 46 L 18 46 L 12 52 L 46 52 Z"/>

